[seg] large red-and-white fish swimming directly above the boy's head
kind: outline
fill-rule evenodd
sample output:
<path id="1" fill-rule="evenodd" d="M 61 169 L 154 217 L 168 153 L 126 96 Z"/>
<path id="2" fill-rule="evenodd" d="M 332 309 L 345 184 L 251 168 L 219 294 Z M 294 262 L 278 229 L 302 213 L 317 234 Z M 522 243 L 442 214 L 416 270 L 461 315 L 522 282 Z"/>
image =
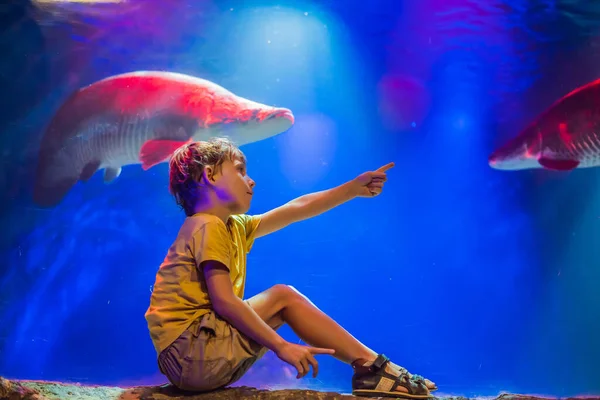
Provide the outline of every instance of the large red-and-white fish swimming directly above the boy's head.
<path id="1" fill-rule="evenodd" d="M 75 92 L 53 117 L 39 151 L 33 198 L 54 206 L 98 170 L 108 183 L 123 166 L 147 170 L 189 141 L 220 136 L 241 146 L 293 124 L 287 108 L 256 103 L 197 77 L 161 71 L 112 76 Z"/>

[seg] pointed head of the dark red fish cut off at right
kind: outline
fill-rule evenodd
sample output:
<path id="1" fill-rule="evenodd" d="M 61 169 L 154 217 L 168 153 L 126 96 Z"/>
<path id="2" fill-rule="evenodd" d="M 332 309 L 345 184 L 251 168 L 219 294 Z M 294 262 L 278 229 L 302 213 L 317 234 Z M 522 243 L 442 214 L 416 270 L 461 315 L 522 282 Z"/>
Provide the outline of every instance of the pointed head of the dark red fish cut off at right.
<path id="1" fill-rule="evenodd" d="M 488 158 L 490 167 L 504 171 L 541 168 L 541 134 L 530 128 L 497 148 Z"/>

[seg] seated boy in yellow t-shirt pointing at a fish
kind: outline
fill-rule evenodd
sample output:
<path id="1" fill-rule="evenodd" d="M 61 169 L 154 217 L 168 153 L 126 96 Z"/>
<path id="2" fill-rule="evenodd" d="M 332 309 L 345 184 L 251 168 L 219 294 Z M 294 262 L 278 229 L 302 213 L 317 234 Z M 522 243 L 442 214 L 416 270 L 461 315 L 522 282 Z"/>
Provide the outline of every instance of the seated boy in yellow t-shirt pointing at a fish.
<path id="1" fill-rule="evenodd" d="M 183 390 L 231 385 L 272 350 L 297 369 L 318 373 L 315 354 L 350 364 L 353 394 L 431 397 L 433 382 L 367 348 L 287 285 L 242 300 L 246 255 L 254 240 L 355 197 L 381 193 L 390 163 L 336 188 L 249 216 L 254 181 L 244 154 L 226 139 L 186 144 L 170 160 L 169 189 L 186 214 L 156 276 L 145 314 L 160 371 Z M 310 346 L 286 342 L 287 323 Z M 315 347 L 312 347 L 315 346 Z"/>

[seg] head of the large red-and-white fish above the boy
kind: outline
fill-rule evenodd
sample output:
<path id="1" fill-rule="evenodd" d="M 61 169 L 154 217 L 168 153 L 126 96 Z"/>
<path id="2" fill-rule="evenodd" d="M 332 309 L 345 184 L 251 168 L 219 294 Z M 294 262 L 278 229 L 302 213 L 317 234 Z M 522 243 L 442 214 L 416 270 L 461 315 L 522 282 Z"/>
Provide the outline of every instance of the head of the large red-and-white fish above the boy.
<path id="1" fill-rule="evenodd" d="M 237 96 L 215 102 L 206 121 L 209 136 L 226 136 L 238 145 L 258 142 L 294 125 L 288 108 L 272 107 Z"/>

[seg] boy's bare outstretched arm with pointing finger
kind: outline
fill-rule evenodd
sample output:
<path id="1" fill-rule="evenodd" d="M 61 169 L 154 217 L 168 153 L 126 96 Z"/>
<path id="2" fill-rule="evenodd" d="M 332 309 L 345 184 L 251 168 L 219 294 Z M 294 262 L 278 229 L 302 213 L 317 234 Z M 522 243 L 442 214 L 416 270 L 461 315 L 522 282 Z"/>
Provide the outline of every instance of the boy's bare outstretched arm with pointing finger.
<path id="1" fill-rule="evenodd" d="M 261 216 L 256 237 L 261 237 L 286 226 L 315 217 L 352 200 L 355 197 L 374 197 L 381 193 L 387 180 L 386 171 L 394 166 L 389 163 L 376 171 L 368 171 L 333 189 L 300 196 Z"/>

